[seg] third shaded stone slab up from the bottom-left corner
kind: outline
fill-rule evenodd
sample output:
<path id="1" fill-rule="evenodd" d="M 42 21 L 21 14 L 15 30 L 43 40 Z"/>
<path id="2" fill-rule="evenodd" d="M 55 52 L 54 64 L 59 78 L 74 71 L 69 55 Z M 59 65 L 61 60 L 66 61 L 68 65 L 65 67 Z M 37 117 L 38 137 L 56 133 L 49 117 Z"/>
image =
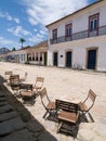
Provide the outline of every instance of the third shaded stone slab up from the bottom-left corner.
<path id="1" fill-rule="evenodd" d="M 11 118 L 14 118 L 18 116 L 18 114 L 16 112 L 10 112 L 10 113 L 3 113 L 3 114 L 0 114 L 0 123 L 1 121 L 4 121 L 4 120 L 9 120 Z"/>

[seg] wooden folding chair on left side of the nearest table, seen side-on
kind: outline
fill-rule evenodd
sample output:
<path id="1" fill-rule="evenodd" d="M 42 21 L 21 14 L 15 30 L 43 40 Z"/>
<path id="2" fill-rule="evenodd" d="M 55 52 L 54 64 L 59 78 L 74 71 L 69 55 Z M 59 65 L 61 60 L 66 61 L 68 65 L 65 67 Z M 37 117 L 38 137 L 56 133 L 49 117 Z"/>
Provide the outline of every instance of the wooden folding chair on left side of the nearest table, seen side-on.
<path id="1" fill-rule="evenodd" d="M 45 114 L 43 115 L 43 118 L 49 114 L 49 116 L 52 116 L 55 113 L 55 102 L 52 102 L 47 93 L 47 89 L 43 88 L 40 92 L 41 103 L 45 108 Z"/>

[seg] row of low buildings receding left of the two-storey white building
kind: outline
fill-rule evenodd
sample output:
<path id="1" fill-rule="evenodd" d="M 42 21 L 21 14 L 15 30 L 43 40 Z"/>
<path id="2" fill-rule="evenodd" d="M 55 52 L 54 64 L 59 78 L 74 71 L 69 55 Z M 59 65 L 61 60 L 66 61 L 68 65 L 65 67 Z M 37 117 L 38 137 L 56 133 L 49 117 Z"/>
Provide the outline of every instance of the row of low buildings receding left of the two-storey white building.
<path id="1" fill-rule="evenodd" d="M 26 47 L 8 53 L 11 62 L 29 63 L 36 65 L 47 65 L 48 62 L 48 41 L 42 41 L 34 47 Z"/>

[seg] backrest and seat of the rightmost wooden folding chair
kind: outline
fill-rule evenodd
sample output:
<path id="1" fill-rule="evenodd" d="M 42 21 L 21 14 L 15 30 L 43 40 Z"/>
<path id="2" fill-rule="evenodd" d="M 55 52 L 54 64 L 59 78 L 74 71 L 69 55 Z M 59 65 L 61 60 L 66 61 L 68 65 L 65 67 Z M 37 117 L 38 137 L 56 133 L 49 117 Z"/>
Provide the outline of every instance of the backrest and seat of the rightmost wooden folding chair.
<path id="1" fill-rule="evenodd" d="M 93 107 L 95 99 L 96 94 L 90 89 L 87 99 L 79 103 L 80 111 L 83 114 L 88 113 Z"/>

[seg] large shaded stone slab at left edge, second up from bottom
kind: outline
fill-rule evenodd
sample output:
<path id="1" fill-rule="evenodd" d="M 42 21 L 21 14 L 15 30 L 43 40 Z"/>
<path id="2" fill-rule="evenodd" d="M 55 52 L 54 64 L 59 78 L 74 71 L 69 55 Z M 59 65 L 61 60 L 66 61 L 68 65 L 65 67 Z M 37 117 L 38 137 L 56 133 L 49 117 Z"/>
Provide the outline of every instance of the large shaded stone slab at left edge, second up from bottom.
<path id="1" fill-rule="evenodd" d="M 0 123 L 0 136 L 5 136 L 16 130 L 21 130 L 25 127 L 25 124 L 19 117 L 12 118 L 10 120 Z"/>

